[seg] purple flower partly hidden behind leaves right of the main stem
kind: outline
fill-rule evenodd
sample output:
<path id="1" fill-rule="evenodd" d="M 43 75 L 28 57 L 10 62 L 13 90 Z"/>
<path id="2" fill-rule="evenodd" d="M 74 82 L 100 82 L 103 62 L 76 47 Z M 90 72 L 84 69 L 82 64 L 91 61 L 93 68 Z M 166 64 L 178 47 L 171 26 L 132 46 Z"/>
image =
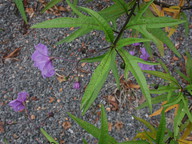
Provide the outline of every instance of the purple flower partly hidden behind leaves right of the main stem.
<path id="1" fill-rule="evenodd" d="M 145 50 L 145 48 L 141 48 L 140 51 L 141 51 L 140 58 L 147 61 L 150 56 L 147 53 L 147 51 Z M 138 65 L 142 70 L 155 70 L 154 65 L 147 65 L 147 64 L 143 64 L 143 63 L 138 63 Z"/>

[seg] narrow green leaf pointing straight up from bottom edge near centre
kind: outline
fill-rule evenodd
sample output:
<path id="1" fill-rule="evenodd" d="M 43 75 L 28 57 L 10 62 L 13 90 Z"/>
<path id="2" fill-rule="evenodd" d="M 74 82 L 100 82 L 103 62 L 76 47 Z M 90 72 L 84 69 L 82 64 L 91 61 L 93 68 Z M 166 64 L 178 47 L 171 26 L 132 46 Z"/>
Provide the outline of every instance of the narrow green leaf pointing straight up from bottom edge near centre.
<path id="1" fill-rule="evenodd" d="M 105 113 L 105 108 L 102 105 L 101 106 L 101 133 L 99 136 L 98 144 L 109 144 L 109 140 L 107 136 L 108 136 L 108 122 L 107 122 L 107 116 Z"/>

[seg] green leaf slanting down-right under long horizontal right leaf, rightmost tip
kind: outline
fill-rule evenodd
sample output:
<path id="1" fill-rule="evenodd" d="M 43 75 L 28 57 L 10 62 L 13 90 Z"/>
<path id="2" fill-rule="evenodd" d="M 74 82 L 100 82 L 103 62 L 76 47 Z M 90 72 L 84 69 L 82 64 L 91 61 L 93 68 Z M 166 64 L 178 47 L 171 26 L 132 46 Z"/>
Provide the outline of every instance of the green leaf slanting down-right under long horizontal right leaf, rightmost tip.
<path id="1" fill-rule="evenodd" d="M 149 29 L 149 31 L 155 36 L 158 37 L 160 41 L 165 43 L 178 57 L 181 58 L 181 54 L 177 51 L 175 48 L 175 45 L 170 40 L 169 37 L 167 37 L 166 32 L 164 32 L 162 29 Z"/>

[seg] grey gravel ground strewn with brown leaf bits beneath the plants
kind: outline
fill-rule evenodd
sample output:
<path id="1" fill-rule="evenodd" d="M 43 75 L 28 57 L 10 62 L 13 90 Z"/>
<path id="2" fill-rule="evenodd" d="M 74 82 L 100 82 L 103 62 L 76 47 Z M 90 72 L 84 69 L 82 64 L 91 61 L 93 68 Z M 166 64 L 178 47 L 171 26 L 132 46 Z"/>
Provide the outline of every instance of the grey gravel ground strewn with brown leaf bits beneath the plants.
<path id="1" fill-rule="evenodd" d="M 60 5 L 67 7 L 66 3 Z M 86 7 L 94 5 L 95 10 L 100 10 L 109 5 L 109 2 L 103 0 L 85 4 L 82 1 L 79 5 Z M 41 6 L 39 2 L 29 0 L 28 7 L 35 10 L 35 14 L 29 19 L 29 26 L 47 19 L 74 16 L 71 12 L 60 12 L 59 16 L 54 13 L 38 14 Z M 186 12 L 191 22 L 191 11 Z M 116 88 L 111 74 L 102 88 L 99 98 L 87 114 L 84 117 L 80 114 L 80 102 L 84 88 L 97 64 L 86 64 L 85 66 L 80 64 L 83 70 L 77 72 L 76 62 L 73 61 L 86 56 L 98 55 L 99 53 L 95 53 L 95 51 L 107 46 L 103 41 L 104 36 L 101 32 L 94 31 L 71 43 L 56 46 L 55 43 L 71 33 L 72 30 L 28 29 L 23 24 L 15 4 L 11 0 L 0 0 L 0 15 L 0 28 L 3 29 L 0 32 L 0 143 L 6 139 L 10 144 L 46 144 L 48 142 L 39 132 L 39 127 L 44 128 L 60 144 L 81 144 L 83 138 L 90 143 L 97 143 L 96 139 L 72 121 L 66 112 L 99 127 L 99 104 L 104 104 L 108 110 L 109 125 L 112 125 L 110 134 L 119 142 L 133 138 L 137 131 L 144 128 L 132 117 L 135 115 L 149 120 L 148 109 L 139 111 L 134 109 L 142 99 L 140 90 L 134 91 L 135 96 L 132 94 L 130 97 L 134 98 L 129 99 L 129 102 L 121 100 L 122 103 L 124 102 L 124 106 L 120 107 L 118 111 L 113 111 L 111 105 L 107 103 L 106 97 L 112 95 Z M 190 29 L 190 36 L 185 37 L 184 29 L 180 28 L 178 33 L 173 36 L 173 42 L 178 45 L 181 53 L 186 48 L 191 50 L 192 29 Z M 56 59 L 54 61 L 57 74 L 69 76 L 67 81 L 60 83 L 57 79 L 58 75 L 44 79 L 40 71 L 33 66 L 31 55 L 34 52 L 34 45 L 38 43 L 47 45 L 52 56 L 70 60 Z M 18 56 L 3 59 L 5 55 L 17 48 L 21 49 Z M 85 50 L 86 53 L 82 50 Z M 171 55 L 173 55 L 172 52 L 166 50 L 164 59 L 166 61 L 171 60 Z M 174 64 L 173 62 L 173 66 Z M 80 78 L 80 90 L 73 89 L 74 77 L 76 76 Z M 148 79 L 149 83 L 158 82 L 158 79 L 154 77 Z M 30 94 L 27 101 L 28 116 L 25 112 L 14 112 L 7 105 L 17 97 L 17 93 L 20 91 L 27 91 Z M 125 96 L 127 95 L 125 94 Z M 53 113 L 54 116 L 47 118 L 50 113 Z"/>

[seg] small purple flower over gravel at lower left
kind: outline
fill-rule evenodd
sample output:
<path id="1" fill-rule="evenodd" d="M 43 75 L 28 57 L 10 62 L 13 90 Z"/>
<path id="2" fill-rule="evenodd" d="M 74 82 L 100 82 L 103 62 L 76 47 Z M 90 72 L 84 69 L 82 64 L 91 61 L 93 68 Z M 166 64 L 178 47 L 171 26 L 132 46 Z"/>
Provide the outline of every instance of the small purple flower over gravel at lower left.
<path id="1" fill-rule="evenodd" d="M 29 96 L 27 92 L 18 93 L 17 99 L 9 102 L 9 106 L 11 106 L 13 110 L 16 112 L 24 110 L 25 109 L 24 103 L 27 100 L 27 96 Z"/>

